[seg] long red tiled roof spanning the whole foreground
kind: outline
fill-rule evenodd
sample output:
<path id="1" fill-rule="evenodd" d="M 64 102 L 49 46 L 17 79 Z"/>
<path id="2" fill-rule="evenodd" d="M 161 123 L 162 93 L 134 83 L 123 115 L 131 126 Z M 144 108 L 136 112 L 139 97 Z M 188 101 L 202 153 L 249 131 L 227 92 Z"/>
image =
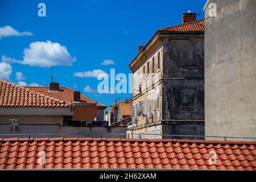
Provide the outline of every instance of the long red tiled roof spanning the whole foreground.
<path id="1" fill-rule="evenodd" d="M 217 154 L 216 164 L 209 163 L 210 151 Z M 45 164 L 39 164 L 39 154 L 44 152 L 46 152 Z M 0 138 L 0 169 L 17 168 L 256 170 L 256 142 L 121 138 Z"/>

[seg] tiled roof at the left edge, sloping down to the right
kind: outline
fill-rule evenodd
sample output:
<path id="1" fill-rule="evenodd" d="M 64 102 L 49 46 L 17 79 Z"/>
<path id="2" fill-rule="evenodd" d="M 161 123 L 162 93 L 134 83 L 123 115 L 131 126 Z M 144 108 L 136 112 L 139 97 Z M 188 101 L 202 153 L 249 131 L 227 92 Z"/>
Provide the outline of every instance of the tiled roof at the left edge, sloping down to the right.
<path id="1" fill-rule="evenodd" d="M 0 79 L 0 107 L 69 107 L 71 103 Z"/>

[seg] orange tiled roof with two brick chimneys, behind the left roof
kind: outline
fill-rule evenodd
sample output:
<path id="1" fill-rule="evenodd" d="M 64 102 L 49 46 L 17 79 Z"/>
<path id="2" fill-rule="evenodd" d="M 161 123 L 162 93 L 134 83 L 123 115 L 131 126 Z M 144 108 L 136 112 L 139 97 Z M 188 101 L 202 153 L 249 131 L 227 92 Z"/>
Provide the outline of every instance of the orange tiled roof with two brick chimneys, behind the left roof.
<path id="1" fill-rule="evenodd" d="M 43 93 L 43 94 L 53 97 L 53 98 L 57 98 L 59 100 L 65 101 L 65 102 L 73 103 L 75 90 L 68 88 L 68 87 L 60 87 L 59 92 L 48 92 L 49 87 L 47 87 L 47 86 L 26 86 L 26 88 L 28 88 L 30 90 L 34 90 L 35 92 Z M 81 94 L 81 103 L 82 104 L 96 104 L 97 103 L 97 106 L 99 106 L 99 107 L 106 107 L 105 105 L 100 104 L 96 101 L 93 101 L 92 99 L 90 99 L 82 94 Z"/>

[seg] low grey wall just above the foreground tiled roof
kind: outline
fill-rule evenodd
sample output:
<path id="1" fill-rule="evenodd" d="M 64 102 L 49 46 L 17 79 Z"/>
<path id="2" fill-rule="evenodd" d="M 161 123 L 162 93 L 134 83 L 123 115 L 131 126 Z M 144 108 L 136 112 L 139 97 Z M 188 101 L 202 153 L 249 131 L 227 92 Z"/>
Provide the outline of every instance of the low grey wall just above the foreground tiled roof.
<path id="1" fill-rule="evenodd" d="M 0 125 L 0 138 L 11 137 L 107 137 L 126 138 L 126 127 L 69 127 L 59 125 L 19 125 L 18 130 L 11 130 L 11 125 Z M 9 134 L 9 135 L 6 135 Z M 12 135 L 10 135 L 12 134 Z M 22 135 L 26 134 L 26 135 Z M 54 134 L 54 135 L 51 135 Z M 110 134 L 110 135 L 109 135 Z M 116 135 L 113 135 L 116 134 Z"/>

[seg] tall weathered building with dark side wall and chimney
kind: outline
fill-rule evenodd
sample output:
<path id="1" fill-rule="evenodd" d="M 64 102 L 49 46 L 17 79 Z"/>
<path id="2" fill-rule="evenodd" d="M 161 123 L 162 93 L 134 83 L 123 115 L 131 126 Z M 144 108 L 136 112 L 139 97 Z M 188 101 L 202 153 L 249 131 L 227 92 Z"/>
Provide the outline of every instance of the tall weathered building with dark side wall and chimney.
<path id="1" fill-rule="evenodd" d="M 133 134 L 204 135 L 204 19 L 184 13 L 182 24 L 159 29 L 129 68 Z"/>

